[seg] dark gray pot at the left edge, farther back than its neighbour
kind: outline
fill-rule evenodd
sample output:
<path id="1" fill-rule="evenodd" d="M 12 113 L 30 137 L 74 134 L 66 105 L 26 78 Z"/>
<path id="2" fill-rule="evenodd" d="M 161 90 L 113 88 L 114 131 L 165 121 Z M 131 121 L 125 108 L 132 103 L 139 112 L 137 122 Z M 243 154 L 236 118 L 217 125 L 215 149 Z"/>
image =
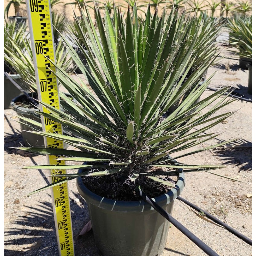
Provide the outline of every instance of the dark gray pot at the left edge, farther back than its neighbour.
<path id="1" fill-rule="evenodd" d="M 17 84 L 21 84 L 22 80 L 19 75 L 9 75 Z M 4 109 L 10 108 L 11 100 L 21 95 L 22 92 L 12 84 L 11 80 L 4 75 Z"/>

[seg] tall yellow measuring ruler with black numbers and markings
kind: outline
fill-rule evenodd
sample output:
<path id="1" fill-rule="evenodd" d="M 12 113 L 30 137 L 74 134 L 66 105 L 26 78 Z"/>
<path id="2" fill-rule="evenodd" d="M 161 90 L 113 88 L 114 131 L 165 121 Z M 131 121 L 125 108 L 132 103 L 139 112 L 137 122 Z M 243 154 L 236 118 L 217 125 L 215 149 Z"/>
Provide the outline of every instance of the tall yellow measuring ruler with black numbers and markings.
<path id="1" fill-rule="evenodd" d="M 54 108 L 60 109 L 58 80 L 53 73 L 56 70 L 48 60 L 55 62 L 50 0 L 26 0 L 26 5 L 38 99 Z M 45 113 L 49 113 L 41 104 L 40 109 Z M 42 124 L 43 131 L 62 134 L 61 124 L 46 117 L 42 117 Z M 44 137 L 44 145 L 48 148 L 63 148 L 63 141 Z M 47 156 L 48 164 L 65 164 L 65 161 L 56 160 L 55 158 L 58 158 L 58 156 Z M 51 175 L 56 173 L 66 173 L 66 171 L 61 172 L 61 170 L 57 169 L 50 171 Z M 63 178 L 52 177 L 51 183 L 61 179 Z M 59 254 L 61 256 L 73 256 L 75 254 L 67 183 L 52 188 L 52 205 Z"/>

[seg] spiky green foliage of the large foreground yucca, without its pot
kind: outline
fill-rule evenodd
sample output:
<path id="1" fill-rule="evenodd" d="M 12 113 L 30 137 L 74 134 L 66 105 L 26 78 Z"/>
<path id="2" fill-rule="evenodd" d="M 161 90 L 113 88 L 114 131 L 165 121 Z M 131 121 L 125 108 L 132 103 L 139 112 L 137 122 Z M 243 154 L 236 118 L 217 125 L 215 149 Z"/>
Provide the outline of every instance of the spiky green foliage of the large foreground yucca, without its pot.
<path id="1" fill-rule="evenodd" d="M 183 156 L 224 144 L 193 149 L 194 146 L 215 138 L 216 134 L 206 131 L 233 113 L 230 111 L 216 114 L 218 109 L 232 101 L 228 100 L 227 96 L 221 97 L 228 91 L 228 88 L 223 88 L 198 102 L 196 112 L 188 114 L 195 107 L 195 99 L 204 92 L 210 82 L 207 80 L 200 87 L 194 86 L 211 64 L 208 59 L 187 76 L 194 63 L 192 56 L 199 32 L 196 30 L 193 37 L 188 36 L 195 17 L 186 20 L 183 12 L 178 18 L 178 12 L 172 10 L 170 15 L 166 15 L 164 11 L 161 18 L 158 18 L 156 11 L 151 18 L 148 7 L 145 20 L 139 23 L 136 5 L 133 15 L 130 10 L 127 11 L 125 20 L 116 9 L 112 20 L 105 7 L 104 25 L 100 10 L 95 8 L 99 29 L 97 31 L 87 7 L 85 11 L 89 19 L 87 21 L 83 14 L 88 34 L 84 34 L 81 26 L 79 30 L 88 52 L 78 40 L 76 44 L 86 56 L 91 72 L 83 66 L 72 46 L 63 38 L 71 57 L 87 77 L 90 89 L 83 81 L 74 81 L 57 65 L 59 81 L 76 102 L 63 102 L 62 107 L 68 114 L 45 104 L 50 113 L 39 113 L 65 126 L 70 136 L 37 132 L 42 136 L 63 140 L 78 150 L 21 149 L 61 156 L 64 160 L 82 163 L 86 161 L 87 164 L 58 166 L 60 170 L 81 168 L 84 173 L 60 174 L 59 181 L 45 188 L 80 175 L 87 179 L 98 176 L 102 180 L 113 178 L 111 186 L 114 191 L 123 189 L 127 194 L 132 194 L 135 187 L 151 188 L 155 182 L 173 187 L 171 182 L 157 175 L 178 173 L 178 168 L 183 168 L 185 172 L 211 172 L 220 168 L 219 165 L 190 165 L 177 162 Z M 162 118 L 167 109 L 189 91 L 191 93 L 186 100 L 170 116 Z M 213 102 L 215 103 L 212 107 L 205 110 Z M 194 130 L 195 127 L 199 128 Z M 184 150 L 188 149 L 191 152 L 184 153 Z M 152 167 L 171 168 L 171 171 L 154 171 Z M 26 168 L 56 169 L 56 166 Z M 108 186 L 109 184 L 108 182 Z M 110 197 L 119 199 L 118 193 L 114 194 Z"/>

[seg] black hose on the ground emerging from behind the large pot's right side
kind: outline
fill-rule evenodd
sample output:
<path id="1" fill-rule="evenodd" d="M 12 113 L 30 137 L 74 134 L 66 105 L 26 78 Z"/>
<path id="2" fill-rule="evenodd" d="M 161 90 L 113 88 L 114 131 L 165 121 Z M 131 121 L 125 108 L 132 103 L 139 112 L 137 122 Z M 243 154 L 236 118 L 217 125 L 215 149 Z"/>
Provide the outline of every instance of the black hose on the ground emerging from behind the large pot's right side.
<path id="1" fill-rule="evenodd" d="M 182 201 L 185 204 L 188 204 L 189 206 L 191 206 L 192 208 L 194 208 L 196 211 L 198 212 L 203 212 L 205 214 L 205 216 L 207 218 L 209 218 L 210 220 L 213 220 L 215 223 L 221 225 L 222 227 L 226 228 L 229 232 L 231 232 L 232 234 L 236 235 L 237 237 L 241 238 L 242 240 L 244 240 L 244 242 L 246 242 L 247 244 L 252 245 L 252 240 L 249 239 L 248 237 L 244 236 L 243 234 L 239 233 L 238 231 L 236 231 L 234 228 L 229 227 L 226 223 L 218 220 L 217 218 L 215 218 L 214 216 L 212 216 L 210 213 L 205 212 L 204 210 L 200 209 L 198 206 L 188 202 L 186 199 L 178 196 L 177 199 L 179 199 L 180 201 Z"/>

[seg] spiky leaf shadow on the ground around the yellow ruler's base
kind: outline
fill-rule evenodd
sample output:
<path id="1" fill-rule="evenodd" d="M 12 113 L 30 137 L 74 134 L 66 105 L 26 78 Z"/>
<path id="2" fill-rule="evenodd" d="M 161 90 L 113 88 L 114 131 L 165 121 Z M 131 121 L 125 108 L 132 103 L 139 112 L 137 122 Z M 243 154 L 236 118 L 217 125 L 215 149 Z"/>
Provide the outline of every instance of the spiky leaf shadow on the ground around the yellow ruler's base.
<path id="1" fill-rule="evenodd" d="M 73 193 L 73 195 L 81 202 L 81 205 L 78 205 L 74 200 L 70 200 L 76 255 L 100 256 L 101 254 L 95 245 L 92 231 L 79 236 L 82 228 L 88 222 L 86 220 L 86 216 L 88 216 L 86 214 L 87 205 L 79 194 Z M 50 194 L 48 196 L 51 197 Z M 5 248 L 12 248 L 12 245 L 17 247 L 18 245 L 20 250 L 4 249 L 4 255 L 59 255 L 52 204 L 42 201 L 38 202 L 35 207 L 24 207 L 25 211 L 17 216 L 17 220 L 13 223 L 13 228 L 4 232 Z"/>

